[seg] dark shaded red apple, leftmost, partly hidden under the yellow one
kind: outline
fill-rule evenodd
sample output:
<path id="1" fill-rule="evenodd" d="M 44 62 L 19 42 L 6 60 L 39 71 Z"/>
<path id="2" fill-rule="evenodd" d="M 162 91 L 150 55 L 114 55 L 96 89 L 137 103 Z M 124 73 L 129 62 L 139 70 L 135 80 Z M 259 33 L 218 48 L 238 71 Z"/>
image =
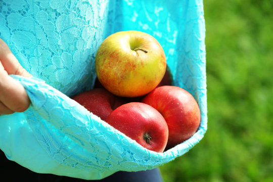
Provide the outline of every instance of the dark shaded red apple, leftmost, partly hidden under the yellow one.
<path id="1" fill-rule="evenodd" d="M 105 120 L 114 109 L 124 104 L 122 100 L 108 92 L 105 88 L 87 90 L 73 96 L 71 99 L 99 116 L 102 120 Z"/>

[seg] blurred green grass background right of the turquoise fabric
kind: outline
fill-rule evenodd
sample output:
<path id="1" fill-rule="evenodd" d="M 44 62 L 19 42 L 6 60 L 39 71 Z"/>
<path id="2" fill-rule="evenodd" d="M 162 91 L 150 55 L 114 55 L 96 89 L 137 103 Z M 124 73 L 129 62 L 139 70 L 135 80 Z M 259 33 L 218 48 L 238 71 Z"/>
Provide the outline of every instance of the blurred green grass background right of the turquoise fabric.
<path id="1" fill-rule="evenodd" d="M 208 130 L 165 182 L 273 181 L 273 1 L 204 0 Z"/>

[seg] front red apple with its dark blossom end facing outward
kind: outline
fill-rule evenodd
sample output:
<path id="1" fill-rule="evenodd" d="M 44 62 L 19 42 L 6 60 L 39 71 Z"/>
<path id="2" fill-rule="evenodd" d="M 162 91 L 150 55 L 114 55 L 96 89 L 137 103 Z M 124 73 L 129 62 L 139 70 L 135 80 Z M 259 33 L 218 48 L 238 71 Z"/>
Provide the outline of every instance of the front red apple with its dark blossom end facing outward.
<path id="1" fill-rule="evenodd" d="M 121 105 L 105 121 L 149 150 L 163 152 L 167 145 L 167 123 L 147 104 L 131 102 Z"/>

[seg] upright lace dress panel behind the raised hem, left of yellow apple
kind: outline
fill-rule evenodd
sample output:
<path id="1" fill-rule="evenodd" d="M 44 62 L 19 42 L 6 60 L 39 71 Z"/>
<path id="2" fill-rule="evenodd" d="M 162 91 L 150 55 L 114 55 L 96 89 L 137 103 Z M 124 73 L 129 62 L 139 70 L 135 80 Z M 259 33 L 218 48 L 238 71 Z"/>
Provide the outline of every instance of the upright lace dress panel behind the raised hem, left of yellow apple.
<path id="1" fill-rule="evenodd" d="M 110 33 L 107 0 L 0 1 L 0 37 L 28 72 L 67 95 L 93 86 L 94 58 Z"/>

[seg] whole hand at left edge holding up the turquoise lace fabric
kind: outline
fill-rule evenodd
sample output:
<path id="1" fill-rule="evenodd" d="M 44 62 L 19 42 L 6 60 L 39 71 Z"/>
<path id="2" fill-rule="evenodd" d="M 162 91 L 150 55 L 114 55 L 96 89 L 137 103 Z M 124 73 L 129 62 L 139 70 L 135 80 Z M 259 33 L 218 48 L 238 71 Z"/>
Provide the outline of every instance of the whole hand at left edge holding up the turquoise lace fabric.
<path id="1" fill-rule="evenodd" d="M 23 85 L 9 74 L 31 77 L 0 38 L 0 115 L 23 112 L 30 105 Z"/>

